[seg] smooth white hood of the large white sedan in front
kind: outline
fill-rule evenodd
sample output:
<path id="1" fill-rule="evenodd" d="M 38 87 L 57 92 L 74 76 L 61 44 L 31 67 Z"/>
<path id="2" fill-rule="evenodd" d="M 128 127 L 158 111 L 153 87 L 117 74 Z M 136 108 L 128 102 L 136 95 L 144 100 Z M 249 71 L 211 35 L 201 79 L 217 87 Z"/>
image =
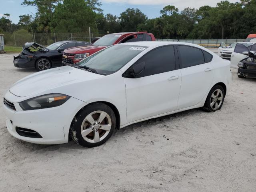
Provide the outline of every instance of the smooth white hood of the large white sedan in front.
<path id="1" fill-rule="evenodd" d="M 38 96 L 54 92 L 54 88 L 70 85 L 78 82 L 85 82 L 102 75 L 81 70 L 78 68 L 63 66 L 37 72 L 22 78 L 13 84 L 9 91 L 19 97 Z M 65 94 L 65 92 L 62 92 Z"/>

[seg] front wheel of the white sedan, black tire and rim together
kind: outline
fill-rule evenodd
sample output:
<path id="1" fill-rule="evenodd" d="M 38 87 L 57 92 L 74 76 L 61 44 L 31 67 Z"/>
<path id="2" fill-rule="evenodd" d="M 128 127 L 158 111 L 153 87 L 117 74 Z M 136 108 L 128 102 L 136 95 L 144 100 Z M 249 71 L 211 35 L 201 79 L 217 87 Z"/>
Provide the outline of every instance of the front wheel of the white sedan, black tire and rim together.
<path id="1" fill-rule="evenodd" d="M 70 136 L 84 147 L 96 147 L 105 143 L 116 129 L 116 116 L 106 104 L 94 103 L 86 106 L 74 118 Z"/>

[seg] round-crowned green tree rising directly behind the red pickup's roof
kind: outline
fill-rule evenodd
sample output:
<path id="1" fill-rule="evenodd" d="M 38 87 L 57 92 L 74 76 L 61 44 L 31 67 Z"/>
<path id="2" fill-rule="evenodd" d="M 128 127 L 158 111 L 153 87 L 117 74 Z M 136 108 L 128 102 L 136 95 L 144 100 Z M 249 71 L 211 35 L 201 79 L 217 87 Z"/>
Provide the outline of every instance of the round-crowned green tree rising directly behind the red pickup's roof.
<path id="1" fill-rule="evenodd" d="M 123 32 L 136 32 L 140 24 L 144 24 L 148 17 L 138 8 L 128 8 L 120 14 L 120 26 Z"/>

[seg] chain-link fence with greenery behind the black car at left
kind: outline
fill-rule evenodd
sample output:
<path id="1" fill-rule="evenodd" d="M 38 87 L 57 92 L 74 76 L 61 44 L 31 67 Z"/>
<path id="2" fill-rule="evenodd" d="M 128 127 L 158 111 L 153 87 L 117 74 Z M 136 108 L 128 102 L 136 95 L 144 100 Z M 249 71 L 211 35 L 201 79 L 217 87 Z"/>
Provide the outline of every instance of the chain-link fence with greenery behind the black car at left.
<path id="1" fill-rule="evenodd" d="M 106 34 L 97 34 L 102 37 Z M 94 34 L 91 33 L 91 40 Z M 26 42 L 36 42 L 48 46 L 57 41 L 77 40 L 90 42 L 89 33 L 28 33 L 27 31 L 4 33 L 4 44 L 6 46 L 23 46 Z"/>

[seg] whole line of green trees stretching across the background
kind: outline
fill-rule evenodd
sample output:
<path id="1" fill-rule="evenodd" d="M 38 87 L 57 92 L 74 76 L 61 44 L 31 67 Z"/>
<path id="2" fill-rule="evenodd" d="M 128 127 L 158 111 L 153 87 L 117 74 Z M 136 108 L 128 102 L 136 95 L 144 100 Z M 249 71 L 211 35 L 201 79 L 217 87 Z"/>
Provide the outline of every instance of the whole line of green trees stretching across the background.
<path id="1" fill-rule="evenodd" d="M 10 32 L 5 36 L 7 40 L 20 29 L 48 34 L 36 37 L 44 44 L 54 40 L 52 32 L 66 33 L 67 38 L 70 38 L 70 33 L 80 37 L 79 33 L 88 33 L 89 26 L 94 37 L 115 32 L 147 31 L 156 38 L 225 39 L 246 38 L 248 34 L 256 33 L 256 0 L 236 3 L 224 0 L 216 7 L 202 6 L 198 10 L 188 7 L 181 11 L 167 5 L 160 10 L 161 16 L 153 19 L 148 19 L 138 8 L 128 8 L 119 17 L 104 15 L 101 5 L 100 0 L 23 0 L 22 6 L 36 7 L 36 14 L 21 15 L 17 25 L 10 20 L 10 14 L 4 14 L 0 18 L 0 31 Z"/>

